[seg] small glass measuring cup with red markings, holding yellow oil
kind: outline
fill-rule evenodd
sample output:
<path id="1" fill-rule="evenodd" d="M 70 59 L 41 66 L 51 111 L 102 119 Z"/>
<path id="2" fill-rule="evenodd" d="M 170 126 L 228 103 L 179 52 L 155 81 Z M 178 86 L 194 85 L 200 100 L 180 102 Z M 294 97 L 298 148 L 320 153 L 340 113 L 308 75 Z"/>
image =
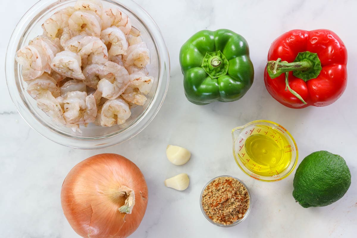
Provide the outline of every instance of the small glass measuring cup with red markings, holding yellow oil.
<path id="1" fill-rule="evenodd" d="M 278 123 L 257 120 L 232 130 L 233 156 L 252 178 L 274 182 L 286 178 L 295 168 L 297 145 Z"/>

